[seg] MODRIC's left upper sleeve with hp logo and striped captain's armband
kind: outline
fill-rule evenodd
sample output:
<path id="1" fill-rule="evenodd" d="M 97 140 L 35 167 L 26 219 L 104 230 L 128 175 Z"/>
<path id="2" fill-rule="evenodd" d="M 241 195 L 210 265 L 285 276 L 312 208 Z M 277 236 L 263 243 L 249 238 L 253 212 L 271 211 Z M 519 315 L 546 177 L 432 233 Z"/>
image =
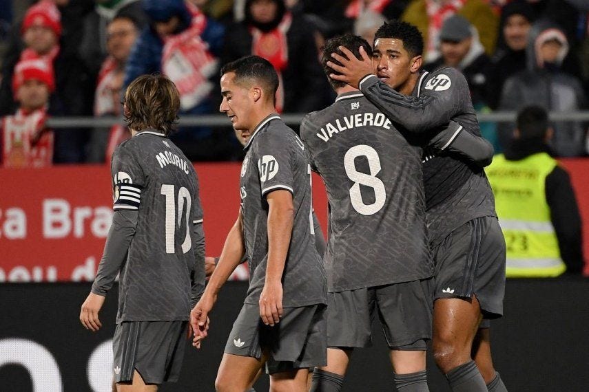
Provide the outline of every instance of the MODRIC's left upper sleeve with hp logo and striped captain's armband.
<path id="1" fill-rule="evenodd" d="M 113 210 L 138 210 L 145 185 L 143 169 L 127 143 L 112 155 Z"/>

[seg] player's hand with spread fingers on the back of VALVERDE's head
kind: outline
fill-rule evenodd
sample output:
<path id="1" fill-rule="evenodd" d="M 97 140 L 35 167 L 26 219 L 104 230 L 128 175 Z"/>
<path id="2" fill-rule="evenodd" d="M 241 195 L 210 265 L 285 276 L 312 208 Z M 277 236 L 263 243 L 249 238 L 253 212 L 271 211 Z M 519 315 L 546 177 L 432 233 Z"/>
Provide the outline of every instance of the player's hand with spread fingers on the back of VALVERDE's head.
<path id="1" fill-rule="evenodd" d="M 356 58 L 346 47 L 340 46 L 338 49 L 342 51 L 345 57 L 337 53 L 331 54 L 331 57 L 341 65 L 337 65 L 333 61 L 328 61 L 327 66 L 338 72 L 338 74 L 329 74 L 329 77 L 358 88 L 360 79 L 368 74 L 374 73 L 372 59 L 363 47 L 360 47 L 360 58 Z"/>

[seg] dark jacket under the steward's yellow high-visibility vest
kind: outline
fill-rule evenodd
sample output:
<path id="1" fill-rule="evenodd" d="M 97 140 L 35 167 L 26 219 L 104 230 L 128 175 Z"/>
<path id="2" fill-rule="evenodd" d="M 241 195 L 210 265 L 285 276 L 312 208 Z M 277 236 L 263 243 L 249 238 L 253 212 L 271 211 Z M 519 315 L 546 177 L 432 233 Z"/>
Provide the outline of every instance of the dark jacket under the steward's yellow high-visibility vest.
<path id="1" fill-rule="evenodd" d="M 550 153 L 542 140 L 514 140 L 505 152 L 510 161 L 523 160 L 536 153 Z M 550 220 L 555 228 L 561 258 L 566 271 L 581 274 L 583 270 L 583 248 L 581 237 L 581 215 L 572 189 L 570 177 L 561 166 L 546 176 L 546 202 L 550 207 Z"/>

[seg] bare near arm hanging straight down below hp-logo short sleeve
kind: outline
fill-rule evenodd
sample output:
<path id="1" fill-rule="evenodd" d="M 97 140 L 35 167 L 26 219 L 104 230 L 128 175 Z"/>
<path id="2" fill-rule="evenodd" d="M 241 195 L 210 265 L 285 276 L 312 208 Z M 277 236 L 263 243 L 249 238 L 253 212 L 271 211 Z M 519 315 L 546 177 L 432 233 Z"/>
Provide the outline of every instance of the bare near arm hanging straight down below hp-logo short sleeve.
<path id="1" fill-rule="evenodd" d="M 282 273 L 291 242 L 294 207 L 289 190 L 273 190 L 266 199 L 269 206 L 268 262 L 260 294 L 260 317 L 265 325 L 273 326 L 282 316 Z"/>

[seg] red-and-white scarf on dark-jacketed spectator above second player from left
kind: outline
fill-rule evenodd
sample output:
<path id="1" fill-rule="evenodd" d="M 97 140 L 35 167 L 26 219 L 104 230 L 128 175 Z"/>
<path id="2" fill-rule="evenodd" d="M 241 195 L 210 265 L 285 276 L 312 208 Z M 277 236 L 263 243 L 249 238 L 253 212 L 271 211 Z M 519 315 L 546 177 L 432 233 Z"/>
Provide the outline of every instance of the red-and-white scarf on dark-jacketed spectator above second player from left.
<path id="1" fill-rule="evenodd" d="M 287 44 L 287 32 L 291 28 L 292 16 L 285 13 L 282 21 L 275 29 L 269 32 L 250 26 L 251 54 L 265 58 L 276 69 L 278 74 L 278 91 L 276 91 L 276 111 L 282 113 L 285 107 L 285 90 L 282 83 L 282 72 L 289 65 L 289 47 Z"/>

